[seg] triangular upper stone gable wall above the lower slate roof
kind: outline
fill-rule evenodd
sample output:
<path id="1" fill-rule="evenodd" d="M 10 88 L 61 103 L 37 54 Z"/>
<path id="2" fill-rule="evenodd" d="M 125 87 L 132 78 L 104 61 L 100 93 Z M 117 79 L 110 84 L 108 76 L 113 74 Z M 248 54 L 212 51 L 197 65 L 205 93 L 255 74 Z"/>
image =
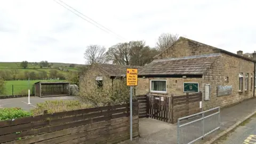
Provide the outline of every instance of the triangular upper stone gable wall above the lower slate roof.
<path id="1" fill-rule="evenodd" d="M 174 43 L 171 47 L 157 55 L 154 59 L 162 58 L 180 58 L 191 55 L 201 55 L 210 53 L 219 53 L 218 49 L 212 49 L 211 47 L 199 45 L 188 41 L 185 38 L 181 38 L 179 41 Z"/>

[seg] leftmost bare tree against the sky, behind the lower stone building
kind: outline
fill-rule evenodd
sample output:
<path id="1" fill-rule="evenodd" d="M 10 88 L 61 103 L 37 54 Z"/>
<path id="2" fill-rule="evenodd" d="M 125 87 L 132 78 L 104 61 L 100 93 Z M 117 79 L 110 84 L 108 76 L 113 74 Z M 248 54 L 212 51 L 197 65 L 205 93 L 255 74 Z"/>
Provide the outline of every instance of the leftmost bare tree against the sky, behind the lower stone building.
<path id="1" fill-rule="evenodd" d="M 87 63 L 105 63 L 106 59 L 106 48 L 100 45 L 89 45 L 87 46 L 84 58 Z"/>

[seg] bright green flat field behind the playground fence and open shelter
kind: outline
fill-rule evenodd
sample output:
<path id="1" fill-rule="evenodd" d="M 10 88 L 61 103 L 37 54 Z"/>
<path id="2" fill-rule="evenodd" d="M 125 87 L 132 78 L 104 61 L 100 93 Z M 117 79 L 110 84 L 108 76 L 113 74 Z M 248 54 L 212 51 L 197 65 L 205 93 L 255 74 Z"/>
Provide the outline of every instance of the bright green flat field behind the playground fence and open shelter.
<path id="1" fill-rule="evenodd" d="M 28 94 L 28 87 L 32 90 L 32 86 L 34 83 L 39 81 L 46 81 L 46 82 L 63 82 L 58 80 L 35 80 L 35 81 L 5 81 L 5 94 L 4 95 L 12 95 L 12 85 L 13 85 L 13 94 Z"/>

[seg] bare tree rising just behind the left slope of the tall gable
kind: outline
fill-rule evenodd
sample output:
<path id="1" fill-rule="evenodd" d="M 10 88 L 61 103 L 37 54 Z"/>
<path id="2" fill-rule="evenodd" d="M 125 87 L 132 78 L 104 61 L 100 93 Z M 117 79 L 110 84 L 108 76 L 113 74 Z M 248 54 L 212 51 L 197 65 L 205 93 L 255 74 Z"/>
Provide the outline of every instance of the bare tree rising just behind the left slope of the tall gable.
<path id="1" fill-rule="evenodd" d="M 161 34 L 156 42 L 156 49 L 159 52 L 162 52 L 163 50 L 167 49 L 167 47 L 171 46 L 174 42 L 176 42 L 178 40 L 178 37 L 179 36 L 177 34 Z"/>

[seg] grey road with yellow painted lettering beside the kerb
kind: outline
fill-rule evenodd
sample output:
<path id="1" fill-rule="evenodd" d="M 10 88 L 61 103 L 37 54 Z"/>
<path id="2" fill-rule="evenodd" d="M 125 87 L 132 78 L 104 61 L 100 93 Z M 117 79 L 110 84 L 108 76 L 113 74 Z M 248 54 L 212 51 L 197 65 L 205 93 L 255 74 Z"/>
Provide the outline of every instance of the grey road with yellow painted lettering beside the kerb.
<path id="1" fill-rule="evenodd" d="M 243 122 L 234 132 L 222 137 L 221 140 L 215 144 L 256 144 L 256 115 L 251 117 L 248 121 Z"/>

